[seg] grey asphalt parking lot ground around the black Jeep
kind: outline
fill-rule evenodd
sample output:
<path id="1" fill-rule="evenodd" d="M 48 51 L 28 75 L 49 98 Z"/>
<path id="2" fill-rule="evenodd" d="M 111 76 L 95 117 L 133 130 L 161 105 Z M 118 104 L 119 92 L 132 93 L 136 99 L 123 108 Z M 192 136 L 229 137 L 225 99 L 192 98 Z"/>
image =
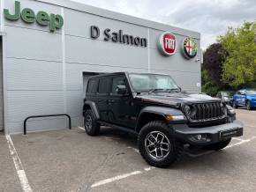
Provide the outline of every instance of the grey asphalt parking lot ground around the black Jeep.
<path id="1" fill-rule="evenodd" d="M 0 191 L 256 191 L 256 110 L 236 111 L 243 137 L 222 151 L 184 151 L 167 169 L 148 166 L 136 138 L 115 129 L 0 135 Z"/>

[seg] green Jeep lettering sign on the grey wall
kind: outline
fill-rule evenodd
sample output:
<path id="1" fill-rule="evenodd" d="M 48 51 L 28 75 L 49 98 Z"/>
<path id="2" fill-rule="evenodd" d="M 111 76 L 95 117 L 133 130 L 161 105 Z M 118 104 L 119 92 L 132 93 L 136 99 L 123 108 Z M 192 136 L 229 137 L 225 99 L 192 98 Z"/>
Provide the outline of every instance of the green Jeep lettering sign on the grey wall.
<path id="1" fill-rule="evenodd" d="M 61 15 L 48 14 L 45 11 L 38 11 L 34 13 L 32 9 L 24 8 L 20 10 L 20 2 L 15 1 L 14 13 L 10 13 L 9 10 L 4 9 L 4 18 L 8 20 L 19 20 L 21 18 L 28 24 L 33 24 L 35 21 L 40 26 L 49 26 L 50 32 L 55 32 L 56 29 L 61 29 L 64 25 L 64 18 Z"/>

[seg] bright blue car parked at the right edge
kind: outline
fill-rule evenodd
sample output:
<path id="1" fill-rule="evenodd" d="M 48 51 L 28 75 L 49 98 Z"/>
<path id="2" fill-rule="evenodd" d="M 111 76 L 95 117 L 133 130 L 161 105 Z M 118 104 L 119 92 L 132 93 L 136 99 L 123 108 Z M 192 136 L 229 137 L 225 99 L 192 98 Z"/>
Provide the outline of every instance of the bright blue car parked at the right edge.
<path id="1" fill-rule="evenodd" d="M 246 107 L 251 110 L 256 107 L 256 90 L 241 89 L 233 95 L 233 107 Z"/>

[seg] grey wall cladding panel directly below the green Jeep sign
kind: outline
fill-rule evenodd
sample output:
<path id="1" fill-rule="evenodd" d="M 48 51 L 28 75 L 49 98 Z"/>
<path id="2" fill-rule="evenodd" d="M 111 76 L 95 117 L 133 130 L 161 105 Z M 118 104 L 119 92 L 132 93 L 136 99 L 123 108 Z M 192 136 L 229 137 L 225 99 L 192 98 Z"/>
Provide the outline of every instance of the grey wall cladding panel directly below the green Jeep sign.
<path id="1" fill-rule="evenodd" d="M 62 62 L 62 37 L 58 33 L 5 26 L 7 57 Z"/>

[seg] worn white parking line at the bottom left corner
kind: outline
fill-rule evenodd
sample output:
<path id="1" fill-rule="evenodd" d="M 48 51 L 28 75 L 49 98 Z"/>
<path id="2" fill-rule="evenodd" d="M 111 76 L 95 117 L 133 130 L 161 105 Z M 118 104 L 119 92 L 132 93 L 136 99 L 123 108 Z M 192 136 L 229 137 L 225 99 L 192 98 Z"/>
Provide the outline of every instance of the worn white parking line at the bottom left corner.
<path id="1" fill-rule="evenodd" d="M 14 147 L 14 144 L 11 141 L 11 137 L 9 135 L 6 135 L 7 144 L 9 145 L 9 150 L 11 153 L 11 158 L 13 160 L 14 166 L 16 168 L 17 174 L 19 176 L 19 182 L 24 192 L 32 192 L 32 188 L 30 187 L 27 178 L 26 173 L 23 169 L 23 166 L 21 164 L 21 160 L 19 159 L 19 155 Z"/>

